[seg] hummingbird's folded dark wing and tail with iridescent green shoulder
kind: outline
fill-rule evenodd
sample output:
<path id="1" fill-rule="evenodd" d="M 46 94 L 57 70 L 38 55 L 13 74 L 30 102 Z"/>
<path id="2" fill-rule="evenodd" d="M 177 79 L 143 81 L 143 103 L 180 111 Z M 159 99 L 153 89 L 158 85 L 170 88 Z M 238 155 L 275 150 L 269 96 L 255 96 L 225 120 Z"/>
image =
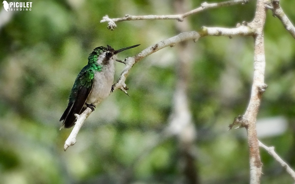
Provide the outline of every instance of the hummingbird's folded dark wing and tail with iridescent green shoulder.
<path id="1" fill-rule="evenodd" d="M 93 82 L 94 72 L 84 67 L 76 78 L 69 98 L 68 107 L 60 118 L 60 121 L 63 120 L 61 128 L 63 126 L 65 128 L 70 128 L 75 124 L 76 117 L 74 114 L 81 113 L 86 99 L 92 90 Z"/>

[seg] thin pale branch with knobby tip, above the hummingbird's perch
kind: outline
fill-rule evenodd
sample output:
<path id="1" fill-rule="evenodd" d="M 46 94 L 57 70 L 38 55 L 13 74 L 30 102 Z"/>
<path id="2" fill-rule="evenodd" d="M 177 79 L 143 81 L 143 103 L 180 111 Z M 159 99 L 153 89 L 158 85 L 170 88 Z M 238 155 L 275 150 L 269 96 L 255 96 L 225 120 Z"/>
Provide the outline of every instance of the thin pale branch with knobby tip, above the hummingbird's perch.
<path id="1" fill-rule="evenodd" d="M 213 9 L 213 8 L 218 8 L 218 7 L 223 7 L 223 6 L 231 6 L 235 4 L 245 4 L 248 3 L 248 0 L 230 0 L 230 1 L 225 1 L 225 2 L 220 2 L 220 3 L 207 3 L 204 2 L 201 4 L 200 7 L 191 10 L 189 12 L 183 13 L 183 14 L 177 14 L 177 15 L 141 15 L 141 16 L 134 16 L 134 15 L 129 15 L 126 14 L 125 17 L 122 18 L 109 18 L 108 15 L 102 17 L 102 22 L 108 22 L 108 29 L 114 30 L 114 28 L 117 27 L 115 22 L 122 22 L 126 20 L 178 20 L 179 22 L 183 21 L 183 18 L 191 15 L 191 14 L 196 14 L 199 12 L 202 12 L 206 9 Z"/>

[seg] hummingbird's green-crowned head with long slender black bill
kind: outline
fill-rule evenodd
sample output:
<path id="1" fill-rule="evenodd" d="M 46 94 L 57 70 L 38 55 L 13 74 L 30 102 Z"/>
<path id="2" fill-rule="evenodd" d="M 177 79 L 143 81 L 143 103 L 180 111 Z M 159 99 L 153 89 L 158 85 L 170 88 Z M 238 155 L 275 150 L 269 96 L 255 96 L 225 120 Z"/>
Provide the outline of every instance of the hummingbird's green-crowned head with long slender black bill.
<path id="1" fill-rule="evenodd" d="M 140 45 L 133 45 L 130 47 L 125 47 L 123 49 L 115 50 L 111 46 L 107 45 L 107 47 L 100 46 L 96 47 L 88 57 L 88 64 L 93 62 L 97 62 L 98 64 L 107 65 L 110 62 L 113 62 L 117 59 L 117 54 L 127 49 L 131 49 Z"/>

